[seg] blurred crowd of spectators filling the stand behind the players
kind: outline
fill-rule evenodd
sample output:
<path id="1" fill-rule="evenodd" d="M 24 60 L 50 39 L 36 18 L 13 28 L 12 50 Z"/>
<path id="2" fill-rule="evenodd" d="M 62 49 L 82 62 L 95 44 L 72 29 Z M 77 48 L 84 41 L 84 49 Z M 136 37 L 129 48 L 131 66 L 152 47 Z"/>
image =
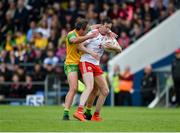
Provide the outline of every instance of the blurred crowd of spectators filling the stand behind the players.
<path id="1" fill-rule="evenodd" d="M 63 63 L 65 37 L 75 20 L 86 18 L 90 25 L 109 16 L 112 31 L 123 49 L 130 46 L 156 23 L 175 12 L 173 0 L 1 0 L 0 1 L 0 83 L 12 81 L 6 97 L 35 93 L 32 81 L 44 81 L 56 73 L 66 84 Z M 107 69 L 111 54 L 101 64 Z M 26 82 L 27 84 L 19 84 Z M 40 87 L 41 88 L 41 87 Z"/>

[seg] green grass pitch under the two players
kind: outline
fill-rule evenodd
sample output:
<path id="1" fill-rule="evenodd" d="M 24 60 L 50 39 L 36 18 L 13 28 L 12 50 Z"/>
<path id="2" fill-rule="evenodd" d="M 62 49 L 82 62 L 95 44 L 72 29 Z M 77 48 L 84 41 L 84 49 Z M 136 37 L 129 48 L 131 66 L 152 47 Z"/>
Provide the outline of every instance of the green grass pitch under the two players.
<path id="1" fill-rule="evenodd" d="M 103 107 L 102 122 L 63 121 L 60 106 L 0 106 L 0 131 L 180 131 L 180 108 Z"/>

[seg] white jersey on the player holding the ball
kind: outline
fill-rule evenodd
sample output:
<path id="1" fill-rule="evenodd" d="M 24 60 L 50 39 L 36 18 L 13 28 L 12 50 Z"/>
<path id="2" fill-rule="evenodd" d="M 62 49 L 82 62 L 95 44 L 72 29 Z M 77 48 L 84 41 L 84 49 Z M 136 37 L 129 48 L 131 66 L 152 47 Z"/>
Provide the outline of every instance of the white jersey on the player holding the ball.
<path id="1" fill-rule="evenodd" d="M 88 34 L 91 34 L 92 32 L 97 30 L 92 30 Z M 85 47 L 96 52 L 99 57 L 103 55 L 104 49 L 102 48 L 102 45 L 105 44 L 105 42 L 108 40 L 108 36 L 102 35 L 99 33 L 99 35 L 95 38 L 88 39 L 85 41 Z M 96 60 L 94 57 L 92 57 L 90 54 L 83 54 L 81 55 L 80 62 L 90 62 L 94 65 L 99 65 L 99 60 Z"/>

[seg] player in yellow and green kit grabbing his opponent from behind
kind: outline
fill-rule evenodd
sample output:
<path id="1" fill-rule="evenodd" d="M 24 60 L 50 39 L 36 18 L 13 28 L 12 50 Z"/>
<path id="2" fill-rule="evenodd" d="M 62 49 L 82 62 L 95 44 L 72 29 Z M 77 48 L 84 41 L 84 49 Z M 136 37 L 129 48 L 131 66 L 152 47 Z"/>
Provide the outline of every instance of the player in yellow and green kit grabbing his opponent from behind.
<path id="1" fill-rule="evenodd" d="M 86 35 L 87 29 L 87 20 L 80 19 L 76 22 L 75 29 L 70 31 L 66 37 L 66 60 L 64 70 L 67 74 L 69 91 L 65 98 L 63 120 L 69 120 L 69 109 L 78 88 L 78 64 L 80 60 L 80 52 L 77 49 L 78 44 L 98 35 L 97 33 Z M 82 51 L 91 54 L 95 58 L 99 58 L 95 52 L 88 50 L 87 48 L 84 48 Z"/>

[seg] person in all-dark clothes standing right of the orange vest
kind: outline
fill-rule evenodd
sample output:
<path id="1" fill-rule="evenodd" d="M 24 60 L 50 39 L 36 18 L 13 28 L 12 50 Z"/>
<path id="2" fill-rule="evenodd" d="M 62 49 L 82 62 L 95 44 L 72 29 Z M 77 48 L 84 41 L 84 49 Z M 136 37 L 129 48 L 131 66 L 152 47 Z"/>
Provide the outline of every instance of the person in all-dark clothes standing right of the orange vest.
<path id="1" fill-rule="evenodd" d="M 156 76 L 149 65 L 144 69 L 144 76 L 141 80 L 141 101 L 142 106 L 148 106 L 155 98 L 157 91 Z"/>

